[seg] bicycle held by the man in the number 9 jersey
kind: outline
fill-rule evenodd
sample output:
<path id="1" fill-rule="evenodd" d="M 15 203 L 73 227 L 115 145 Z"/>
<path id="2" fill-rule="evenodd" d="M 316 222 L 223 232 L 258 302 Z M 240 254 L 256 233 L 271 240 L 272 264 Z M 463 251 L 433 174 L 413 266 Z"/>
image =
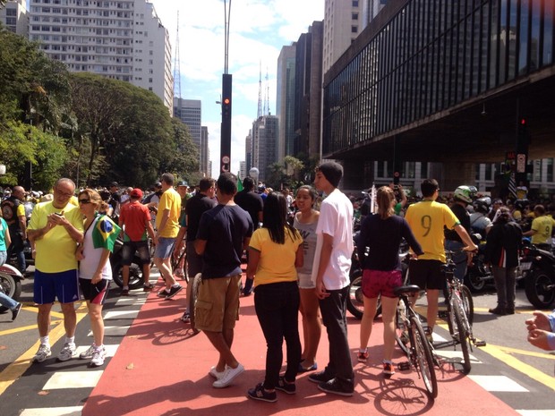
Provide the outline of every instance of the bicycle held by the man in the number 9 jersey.
<path id="1" fill-rule="evenodd" d="M 452 345 L 456 348 L 461 345 L 463 352 L 463 372 L 467 374 L 472 367 L 470 361 L 470 351 L 475 346 L 483 346 L 483 341 L 477 341 L 473 335 L 472 324 L 474 321 L 474 301 L 470 290 L 462 284 L 455 276 L 455 263 L 451 259 L 453 252 L 446 251 L 447 263 L 442 267 L 442 273 L 446 277 L 445 299 L 447 300 L 447 324 L 449 334 L 453 338 L 440 344 L 435 344 L 435 348 Z"/>

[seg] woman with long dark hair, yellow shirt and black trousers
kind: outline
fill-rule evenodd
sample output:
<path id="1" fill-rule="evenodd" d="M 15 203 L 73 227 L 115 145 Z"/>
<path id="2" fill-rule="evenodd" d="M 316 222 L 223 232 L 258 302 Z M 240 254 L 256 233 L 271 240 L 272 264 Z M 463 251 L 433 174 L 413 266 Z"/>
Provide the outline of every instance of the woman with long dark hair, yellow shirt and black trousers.
<path id="1" fill-rule="evenodd" d="M 268 194 L 264 201 L 264 223 L 252 233 L 247 278 L 254 278 L 254 309 L 266 338 L 266 377 L 250 389 L 254 400 L 276 402 L 276 389 L 295 393 L 295 378 L 301 361 L 298 310 L 299 287 L 295 267 L 303 266 L 303 238 L 287 223 L 286 197 Z M 286 339 L 287 368 L 279 376 Z"/>

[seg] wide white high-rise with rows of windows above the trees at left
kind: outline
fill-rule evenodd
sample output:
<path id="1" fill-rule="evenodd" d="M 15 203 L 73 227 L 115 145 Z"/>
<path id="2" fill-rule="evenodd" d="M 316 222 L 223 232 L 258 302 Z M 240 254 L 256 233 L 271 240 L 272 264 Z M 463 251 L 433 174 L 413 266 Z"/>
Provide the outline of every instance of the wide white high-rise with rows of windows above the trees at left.
<path id="1" fill-rule="evenodd" d="M 69 71 L 149 89 L 171 112 L 169 34 L 146 0 L 30 0 L 29 37 Z"/>

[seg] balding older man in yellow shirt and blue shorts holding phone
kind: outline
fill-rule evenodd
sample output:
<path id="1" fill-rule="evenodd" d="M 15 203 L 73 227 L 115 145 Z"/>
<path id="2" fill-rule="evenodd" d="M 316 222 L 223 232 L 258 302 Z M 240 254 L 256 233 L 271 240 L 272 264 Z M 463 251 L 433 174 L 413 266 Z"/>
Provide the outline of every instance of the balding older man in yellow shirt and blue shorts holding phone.
<path id="1" fill-rule="evenodd" d="M 58 180 L 54 199 L 33 208 L 27 236 L 34 247 L 34 297 L 38 304 L 37 326 L 40 346 L 33 361 L 42 362 L 51 355 L 48 331 L 50 310 L 57 297 L 64 314 L 65 344 L 58 361 L 71 360 L 75 354 L 74 301 L 79 300 L 77 244 L 83 241 L 83 219 L 79 208 L 69 203 L 75 192 L 71 179 Z"/>

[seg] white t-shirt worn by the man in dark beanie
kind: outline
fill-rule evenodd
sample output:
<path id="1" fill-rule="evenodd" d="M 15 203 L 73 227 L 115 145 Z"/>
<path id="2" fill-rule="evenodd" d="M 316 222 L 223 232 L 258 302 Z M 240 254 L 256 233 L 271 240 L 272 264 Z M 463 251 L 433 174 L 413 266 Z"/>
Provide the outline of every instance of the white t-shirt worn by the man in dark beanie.
<path id="1" fill-rule="evenodd" d="M 349 284 L 351 256 L 354 250 L 353 204 L 343 192 L 337 189 L 332 191 L 320 206 L 320 217 L 316 227 L 316 252 L 312 263 L 313 282 L 316 282 L 320 265 L 323 233 L 331 235 L 333 242 L 328 267 L 326 267 L 322 282 L 328 290 L 343 289 Z"/>

